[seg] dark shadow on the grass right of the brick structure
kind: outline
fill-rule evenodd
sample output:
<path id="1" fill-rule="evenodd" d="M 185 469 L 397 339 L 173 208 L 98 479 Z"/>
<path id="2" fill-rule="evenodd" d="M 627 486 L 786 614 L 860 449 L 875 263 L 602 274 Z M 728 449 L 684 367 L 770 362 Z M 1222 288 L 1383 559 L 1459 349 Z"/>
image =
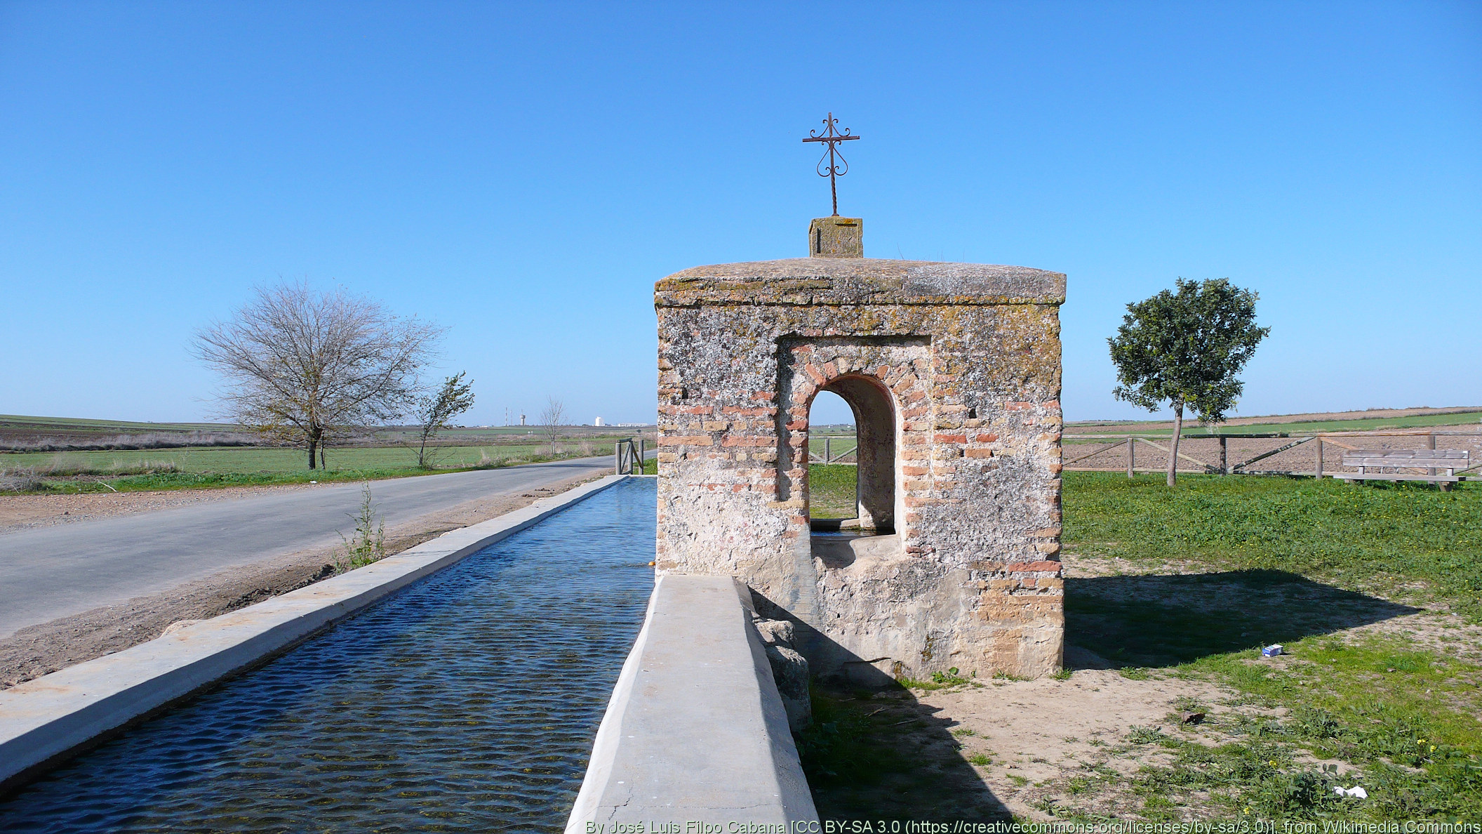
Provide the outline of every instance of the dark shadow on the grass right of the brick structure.
<path id="1" fill-rule="evenodd" d="M 1113 668 L 1177 666 L 1417 611 L 1279 570 L 1066 580 L 1067 646 Z M 1094 663 L 1082 657 L 1067 651 L 1067 666 Z"/>

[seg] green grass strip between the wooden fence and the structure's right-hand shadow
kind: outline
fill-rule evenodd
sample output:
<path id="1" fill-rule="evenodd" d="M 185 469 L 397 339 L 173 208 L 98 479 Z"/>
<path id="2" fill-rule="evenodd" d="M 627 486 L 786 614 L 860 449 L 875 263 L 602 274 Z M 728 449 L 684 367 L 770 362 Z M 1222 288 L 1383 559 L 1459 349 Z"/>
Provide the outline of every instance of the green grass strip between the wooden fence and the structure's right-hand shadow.
<path id="1" fill-rule="evenodd" d="M 1335 479 L 1064 473 L 1063 542 L 1123 559 L 1276 570 L 1398 595 L 1420 580 L 1482 622 L 1482 490 Z"/>

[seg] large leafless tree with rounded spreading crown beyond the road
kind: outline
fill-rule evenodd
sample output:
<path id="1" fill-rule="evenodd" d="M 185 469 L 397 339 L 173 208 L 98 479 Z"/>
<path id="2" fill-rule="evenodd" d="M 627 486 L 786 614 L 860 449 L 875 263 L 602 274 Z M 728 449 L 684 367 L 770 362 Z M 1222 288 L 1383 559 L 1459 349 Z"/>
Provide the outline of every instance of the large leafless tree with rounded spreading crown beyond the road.
<path id="1" fill-rule="evenodd" d="M 308 448 L 405 414 L 443 329 L 369 298 L 305 282 L 258 288 L 230 322 L 196 332 L 194 352 L 225 384 L 221 414 Z"/>

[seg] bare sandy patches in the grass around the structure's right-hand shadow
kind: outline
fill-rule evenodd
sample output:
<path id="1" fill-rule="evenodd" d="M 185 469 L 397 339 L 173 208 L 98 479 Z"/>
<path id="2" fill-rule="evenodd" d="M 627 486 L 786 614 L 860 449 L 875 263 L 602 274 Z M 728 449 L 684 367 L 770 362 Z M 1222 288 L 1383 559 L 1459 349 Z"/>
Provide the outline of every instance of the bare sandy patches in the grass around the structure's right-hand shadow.
<path id="1" fill-rule="evenodd" d="M 1166 564 L 1153 568 L 1116 559 L 1066 554 L 1070 577 L 1125 576 L 1147 573 L 1149 580 L 1169 574 L 1203 573 L 1197 565 Z M 1129 592 L 1141 594 L 1135 582 Z M 1375 601 L 1380 605 L 1389 602 Z M 1359 640 L 1365 634 L 1405 635 L 1420 647 L 1451 651 L 1472 662 L 1482 660 L 1482 628 L 1458 626 L 1445 605 L 1405 608 L 1406 614 L 1353 617 L 1352 628 L 1331 634 L 1340 640 Z M 1343 622 L 1340 619 L 1340 622 Z M 1277 668 L 1304 663 L 1300 657 L 1280 656 L 1258 660 Z M 1150 671 L 1146 680 L 1132 680 L 1110 669 L 1110 663 L 1076 646 L 1067 646 L 1066 666 L 1070 678 L 1033 681 L 988 680 L 977 686 L 937 692 L 910 692 L 876 696 L 882 717 L 900 718 L 914 727 L 904 746 L 941 782 L 941 797 L 914 797 L 897 806 L 886 798 L 882 812 L 926 813 L 937 821 L 962 818 L 1006 819 L 1009 815 L 1030 821 L 1052 821 L 1074 809 L 1080 813 L 1140 816 L 1143 800 L 1129 789 L 1112 787 L 1085 791 L 1088 778 L 1109 773 L 1131 775 L 1147 764 L 1168 764 L 1171 754 L 1156 743 L 1129 743 L 1134 729 L 1146 727 L 1168 736 L 1203 745 L 1243 741 L 1233 727 L 1243 718 L 1282 717 L 1283 711 L 1264 711 L 1245 703 L 1235 690 L 1208 681 L 1181 680 Z M 1203 715 L 1186 723 L 1197 705 Z M 1458 708 L 1467 708 L 1458 705 Z M 1338 773 L 1349 763 L 1298 757 L 1309 764 L 1334 764 Z M 1199 807 L 1197 797 L 1180 813 L 1189 819 L 1217 813 L 1215 806 Z M 1060 816 L 1057 816 L 1057 813 Z"/>

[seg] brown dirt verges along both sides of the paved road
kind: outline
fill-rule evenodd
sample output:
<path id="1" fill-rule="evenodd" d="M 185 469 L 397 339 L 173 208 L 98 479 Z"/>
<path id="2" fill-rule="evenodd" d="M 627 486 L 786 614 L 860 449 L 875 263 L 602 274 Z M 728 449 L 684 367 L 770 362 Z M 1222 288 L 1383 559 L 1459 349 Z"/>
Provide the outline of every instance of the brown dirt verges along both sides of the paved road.
<path id="1" fill-rule="evenodd" d="M 385 533 L 387 555 L 434 539 L 449 530 L 468 527 L 502 515 L 536 499 L 563 493 L 597 476 L 571 478 L 528 493 L 477 499 L 427 513 Z M 268 490 L 313 490 L 295 487 L 242 487 L 176 493 L 122 493 L 117 496 L 16 496 L 0 499 L 0 530 L 16 530 L 74 519 L 130 512 L 148 512 L 196 502 L 225 500 Z M 47 672 L 122 651 L 162 635 L 181 620 L 205 620 L 243 608 L 279 594 L 304 588 L 335 574 L 335 548 L 314 548 L 268 559 L 255 565 L 221 571 L 188 582 L 162 594 L 135 597 L 107 605 L 24 628 L 0 640 L 0 689 L 37 678 Z"/>

